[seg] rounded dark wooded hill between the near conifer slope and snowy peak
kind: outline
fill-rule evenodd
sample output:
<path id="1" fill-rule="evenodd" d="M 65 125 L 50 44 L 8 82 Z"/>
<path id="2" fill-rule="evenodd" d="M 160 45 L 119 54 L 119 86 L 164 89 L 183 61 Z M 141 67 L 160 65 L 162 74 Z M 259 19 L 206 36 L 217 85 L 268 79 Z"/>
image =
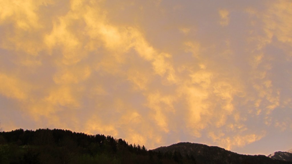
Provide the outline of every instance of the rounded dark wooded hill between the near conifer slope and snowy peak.
<path id="1" fill-rule="evenodd" d="M 196 144 L 190 142 L 180 142 L 170 146 L 163 146 L 153 151 L 161 153 L 178 152 L 182 156 L 194 158 L 197 164 L 288 164 L 292 162 L 272 159 L 264 155 L 242 155 L 232 151 L 225 150 L 218 146 L 207 146 L 204 144 Z"/>

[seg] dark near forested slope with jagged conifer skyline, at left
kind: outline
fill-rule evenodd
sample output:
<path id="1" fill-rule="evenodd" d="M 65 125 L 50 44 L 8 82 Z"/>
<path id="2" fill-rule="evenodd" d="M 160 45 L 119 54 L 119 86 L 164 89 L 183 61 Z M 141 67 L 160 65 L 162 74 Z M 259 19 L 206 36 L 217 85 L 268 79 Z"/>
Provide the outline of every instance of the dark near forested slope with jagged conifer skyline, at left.
<path id="1" fill-rule="evenodd" d="M 0 164 L 196 163 L 180 152 L 154 152 L 112 136 L 61 129 L 0 132 Z"/>

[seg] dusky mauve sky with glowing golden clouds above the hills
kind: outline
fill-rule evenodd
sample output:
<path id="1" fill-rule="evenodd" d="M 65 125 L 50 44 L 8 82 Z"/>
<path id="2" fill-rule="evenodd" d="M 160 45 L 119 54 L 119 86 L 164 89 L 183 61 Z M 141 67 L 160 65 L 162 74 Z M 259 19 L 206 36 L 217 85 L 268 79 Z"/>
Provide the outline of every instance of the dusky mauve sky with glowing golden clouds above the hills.
<path id="1" fill-rule="evenodd" d="M 292 1 L 0 0 L 4 131 L 292 149 Z"/>

